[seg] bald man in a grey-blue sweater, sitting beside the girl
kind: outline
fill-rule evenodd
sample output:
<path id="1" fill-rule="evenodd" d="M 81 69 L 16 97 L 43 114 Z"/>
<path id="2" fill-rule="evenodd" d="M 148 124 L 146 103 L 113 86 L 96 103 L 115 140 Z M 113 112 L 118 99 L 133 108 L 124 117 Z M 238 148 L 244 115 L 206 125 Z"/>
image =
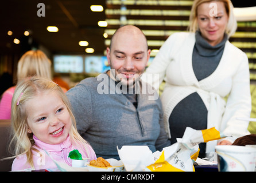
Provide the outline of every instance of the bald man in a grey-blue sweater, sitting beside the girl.
<path id="1" fill-rule="evenodd" d="M 123 145 L 146 145 L 152 152 L 170 145 L 160 98 L 150 99 L 152 92 L 145 92 L 149 86 L 140 79 L 149 57 L 142 31 L 120 27 L 107 48 L 111 70 L 68 90 L 77 130 L 97 157 L 119 160 L 117 146 Z"/>

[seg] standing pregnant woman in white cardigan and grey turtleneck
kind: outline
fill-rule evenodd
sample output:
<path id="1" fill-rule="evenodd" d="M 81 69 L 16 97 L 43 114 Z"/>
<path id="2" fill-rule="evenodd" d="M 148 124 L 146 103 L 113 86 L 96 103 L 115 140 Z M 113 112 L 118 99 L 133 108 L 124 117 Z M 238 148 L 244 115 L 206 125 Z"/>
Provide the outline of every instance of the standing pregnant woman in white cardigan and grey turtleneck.
<path id="1" fill-rule="evenodd" d="M 165 79 L 161 101 L 172 144 L 183 137 L 187 126 L 197 130 L 215 126 L 230 136 L 218 145 L 231 145 L 249 134 L 249 121 L 238 118 L 251 113 L 248 58 L 228 41 L 237 27 L 232 3 L 195 0 L 189 22 L 189 33 L 170 35 L 145 75 L 158 74 L 159 79 L 148 81 L 156 89 Z M 216 144 L 207 142 L 206 148 L 200 144 L 202 156 L 214 152 Z"/>

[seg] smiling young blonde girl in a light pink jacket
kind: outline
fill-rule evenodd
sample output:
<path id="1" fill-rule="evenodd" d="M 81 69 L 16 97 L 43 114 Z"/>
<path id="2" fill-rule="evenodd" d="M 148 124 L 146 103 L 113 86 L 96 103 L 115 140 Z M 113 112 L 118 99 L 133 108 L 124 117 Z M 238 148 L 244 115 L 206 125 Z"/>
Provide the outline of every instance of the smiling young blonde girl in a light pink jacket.
<path id="1" fill-rule="evenodd" d="M 20 81 L 11 105 L 15 143 L 12 170 L 56 168 L 54 160 L 72 165 L 69 152 L 96 159 L 94 150 L 76 130 L 75 117 L 63 90 L 51 79 L 30 77 Z"/>

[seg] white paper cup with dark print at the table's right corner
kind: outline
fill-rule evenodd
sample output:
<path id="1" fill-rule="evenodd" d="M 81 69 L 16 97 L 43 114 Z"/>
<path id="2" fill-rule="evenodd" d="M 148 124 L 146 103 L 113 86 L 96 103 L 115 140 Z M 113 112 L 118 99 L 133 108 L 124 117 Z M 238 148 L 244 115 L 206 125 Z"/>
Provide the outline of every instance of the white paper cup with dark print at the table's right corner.
<path id="1" fill-rule="evenodd" d="M 254 172 L 256 149 L 246 146 L 218 145 L 219 172 Z"/>

